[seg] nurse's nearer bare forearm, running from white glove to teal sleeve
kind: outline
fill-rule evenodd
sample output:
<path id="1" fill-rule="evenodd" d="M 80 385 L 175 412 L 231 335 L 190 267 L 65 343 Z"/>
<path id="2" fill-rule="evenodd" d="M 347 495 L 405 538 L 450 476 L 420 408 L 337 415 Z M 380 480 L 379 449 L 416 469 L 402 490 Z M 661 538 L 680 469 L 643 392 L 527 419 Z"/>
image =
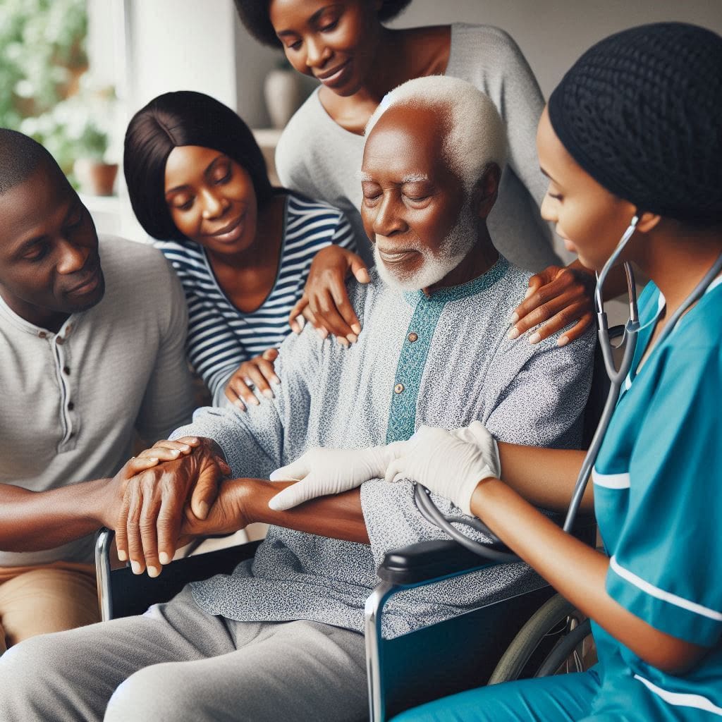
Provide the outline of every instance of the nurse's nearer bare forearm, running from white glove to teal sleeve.
<path id="1" fill-rule="evenodd" d="M 605 589 L 607 557 L 565 534 L 507 484 L 498 479 L 479 484 L 471 510 L 562 596 L 649 664 L 681 671 L 705 652 L 617 604 Z"/>

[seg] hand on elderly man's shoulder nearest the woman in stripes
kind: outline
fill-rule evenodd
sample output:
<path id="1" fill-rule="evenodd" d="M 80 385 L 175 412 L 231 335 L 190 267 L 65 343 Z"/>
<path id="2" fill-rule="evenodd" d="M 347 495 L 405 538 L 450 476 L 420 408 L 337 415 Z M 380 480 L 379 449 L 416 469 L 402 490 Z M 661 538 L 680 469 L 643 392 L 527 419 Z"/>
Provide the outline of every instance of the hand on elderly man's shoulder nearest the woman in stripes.
<path id="1" fill-rule="evenodd" d="M 332 334 L 342 346 L 355 343 L 361 324 L 349 300 L 346 279 L 354 274 L 359 283 L 370 277 L 363 259 L 339 245 L 321 249 L 313 258 L 303 296 L 292 308 L 288 322 L 295 333 L 303 328 L 303 316 L 310 321 L 322 339 Z"/>

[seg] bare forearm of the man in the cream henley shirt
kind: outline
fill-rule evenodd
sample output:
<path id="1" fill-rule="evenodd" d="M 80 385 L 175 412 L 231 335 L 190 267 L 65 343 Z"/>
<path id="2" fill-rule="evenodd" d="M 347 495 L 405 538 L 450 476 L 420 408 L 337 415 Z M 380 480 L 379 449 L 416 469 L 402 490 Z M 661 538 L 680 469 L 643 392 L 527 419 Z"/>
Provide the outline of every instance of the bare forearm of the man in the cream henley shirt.
<path id="1" fill-rule="evenodd" d="M 0 484 L 0 549 L 52 549 L 103 526 L 103 488 L 110 479 L 32 492 Z"/>

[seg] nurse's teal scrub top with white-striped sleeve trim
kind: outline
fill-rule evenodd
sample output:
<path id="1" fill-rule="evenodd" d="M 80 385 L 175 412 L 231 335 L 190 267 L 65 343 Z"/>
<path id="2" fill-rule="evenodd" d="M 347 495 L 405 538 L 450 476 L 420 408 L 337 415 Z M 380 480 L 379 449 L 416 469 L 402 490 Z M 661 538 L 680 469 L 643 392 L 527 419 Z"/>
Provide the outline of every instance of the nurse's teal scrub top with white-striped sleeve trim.
<path id="1" fill-rule="evenodd" d="M 637 373 L 664 309 L 658 288 L 645 288 L 632 372 L 592 476 L 610 557 L 606 591 L 656 629 L 710 652 L 694 669 L 668 674 L 593 625 L 600 718 L 722 718 L 721 281 Z"/>

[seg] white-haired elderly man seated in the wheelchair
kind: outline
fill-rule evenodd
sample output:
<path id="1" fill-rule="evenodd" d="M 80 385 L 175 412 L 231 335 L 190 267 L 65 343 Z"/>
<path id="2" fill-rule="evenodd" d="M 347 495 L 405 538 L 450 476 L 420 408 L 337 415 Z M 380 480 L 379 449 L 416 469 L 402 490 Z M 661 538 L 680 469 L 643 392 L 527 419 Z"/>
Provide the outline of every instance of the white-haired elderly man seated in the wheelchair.
<path id="1" fill-rule="evenodd" d="M 364 718 L 360 632 L 375 566 L 388 549 L 440 532 L 417 513 L 409 483 L 373 479 L 278 511 L 269 500 L 282 485 L 261 479 L 313 445 L 355 448 L 352 470 L 367 478 L 378 450 L 360 450 L 405 440 L 422 423 L 481 419 L 503 440 L 578 442 L 591 342 L 507 339 L 528 274 L 499 256 L 485 225 L 504 162 L 494 106 L 463 81 L 418 79 L 390 95 L 370 128 L 362 214 L 383 280 L 352 284 L 364 321 L 359 342 L 346 349 L 308 331 L 287 339 L 272 403 L 247 414 L 197 412 L 174 437 L 192 434 L 199 445 L 136 477 L 126 495 L 129 557 L 136 571 L 157 570 L 175 534 L 152 480 L 170 474 L 192 484 L 217 475 L 225 459 L 234 477 L 258 478 L 223 482 L 206 521 L 187 513 L 183 531 L 269 522 L 255 560 L 142 617 L 16 648 L 0 661 L 9 722 L 79 712 L 106 721 Z M 521 564 L 449 580 L 389 605 L 386 633 L 537 585 Z"/>

